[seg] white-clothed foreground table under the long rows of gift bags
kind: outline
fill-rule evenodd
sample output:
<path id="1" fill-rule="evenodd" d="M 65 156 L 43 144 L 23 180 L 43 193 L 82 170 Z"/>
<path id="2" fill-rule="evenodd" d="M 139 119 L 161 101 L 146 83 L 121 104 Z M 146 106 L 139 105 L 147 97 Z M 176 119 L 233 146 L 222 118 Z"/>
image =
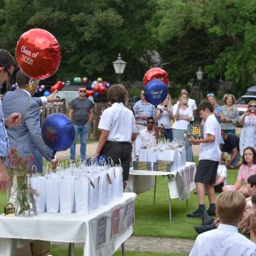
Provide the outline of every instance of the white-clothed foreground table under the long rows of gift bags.
<path id="1" fill-rule="evenodd" d="M 15 239 L 84 242 L 84 256 L 112 255 L 132 234 L 131 215 L 133 214 L 134 219 L 134 207 L 130 206 L 133 206 L 135 198 L 134 193 L 124 193 L 123 197 L 87 215 L 46 212 L 31 217 L 2 215 L 0 216 L 0 255 L 11 255 L 11 247 Z M 116 209 L 120 209 L 119 232 L 111 238 L 112 216 Z M 102 237 L 106 237 L 106 242 L 101 245 Z"/>

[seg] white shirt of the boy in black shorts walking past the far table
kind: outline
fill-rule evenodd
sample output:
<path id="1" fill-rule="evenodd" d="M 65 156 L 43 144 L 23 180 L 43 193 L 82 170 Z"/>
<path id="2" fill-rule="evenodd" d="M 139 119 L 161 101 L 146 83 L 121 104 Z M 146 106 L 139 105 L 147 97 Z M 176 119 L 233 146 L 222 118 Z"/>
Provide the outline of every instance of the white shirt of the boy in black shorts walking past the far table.
<path id="1" fill-rule="evenodd" d="M 199 160 L 213 160 L 219 161 L 221 151 L 219 149 L 219 144 L 221 142 L 221 130 L 218 124 L 218 120 L 212 113 L 207 117 L 206 122 L 203 124 L 204 137 L 208 134 L 215 136 L 215 140 L 212 143 L 201 143 L 200 144 L 200 154 Z"/>

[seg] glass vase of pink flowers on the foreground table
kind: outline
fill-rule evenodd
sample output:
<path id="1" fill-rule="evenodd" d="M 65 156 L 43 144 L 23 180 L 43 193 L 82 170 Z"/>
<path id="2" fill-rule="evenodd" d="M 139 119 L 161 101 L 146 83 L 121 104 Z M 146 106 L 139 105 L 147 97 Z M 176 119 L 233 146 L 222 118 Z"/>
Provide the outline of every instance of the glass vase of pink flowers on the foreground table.
<path id="1" fill-rule="evenodd" d="M 33 155 L 29 154 L 25 159 L 21 158 L 18 151 L 12 148 L 7 157 L 10 161 L 12 174 L 17 178 L 17 197 L 15 215 L 30 214 L 29 180 L 32 175 Z"/>

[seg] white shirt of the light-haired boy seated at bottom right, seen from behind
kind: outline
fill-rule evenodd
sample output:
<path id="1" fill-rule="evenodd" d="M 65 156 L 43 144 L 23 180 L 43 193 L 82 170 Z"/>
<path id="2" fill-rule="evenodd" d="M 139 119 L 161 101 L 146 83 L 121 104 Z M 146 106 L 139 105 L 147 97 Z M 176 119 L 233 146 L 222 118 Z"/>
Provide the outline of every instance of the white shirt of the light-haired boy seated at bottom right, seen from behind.
<path id="1" fill-rule="evenodd" d="M 189 256 L 255 256 L 256 245 L 238 233 L 235 226 L 219 224 L 218 229 L 197 236 Z"/>

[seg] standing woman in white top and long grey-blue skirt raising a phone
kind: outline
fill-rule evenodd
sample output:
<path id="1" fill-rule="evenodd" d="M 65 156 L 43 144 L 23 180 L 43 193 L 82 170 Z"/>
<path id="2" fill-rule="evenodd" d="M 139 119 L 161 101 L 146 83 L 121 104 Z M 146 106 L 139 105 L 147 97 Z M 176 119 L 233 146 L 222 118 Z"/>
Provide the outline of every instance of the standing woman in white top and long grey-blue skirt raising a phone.
<path id="1" fill-rule="evenodd" d="M 174 140 L 181 140 L 186 149 L 186 161 L 194 162 L 194 155 L 191 148 L 191 143 L 188 141 L 186 134 L 188 134 L 189 121 L 193 117 L 193 111 L 188 105 L 189 96 L 183 92 L 179 96 L 179 101 L 173 106 L 174 124 L 172 125 L 172 134 Z"/>

